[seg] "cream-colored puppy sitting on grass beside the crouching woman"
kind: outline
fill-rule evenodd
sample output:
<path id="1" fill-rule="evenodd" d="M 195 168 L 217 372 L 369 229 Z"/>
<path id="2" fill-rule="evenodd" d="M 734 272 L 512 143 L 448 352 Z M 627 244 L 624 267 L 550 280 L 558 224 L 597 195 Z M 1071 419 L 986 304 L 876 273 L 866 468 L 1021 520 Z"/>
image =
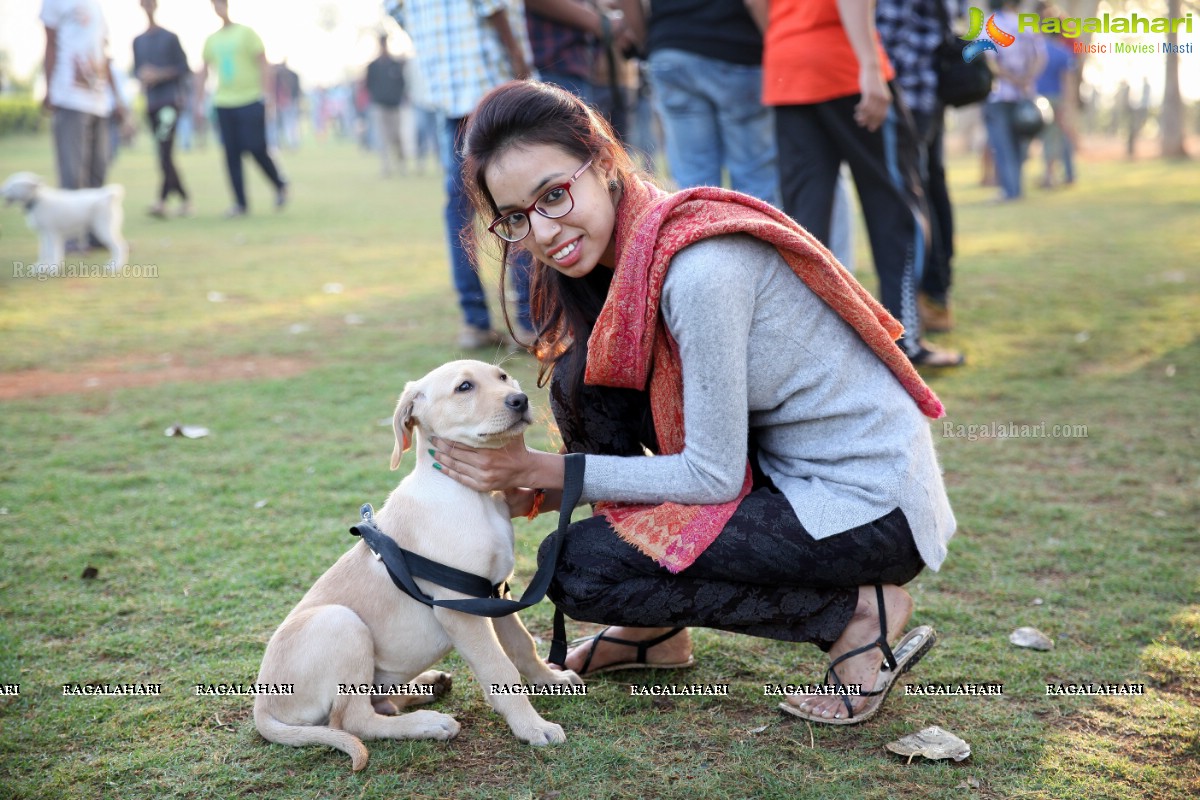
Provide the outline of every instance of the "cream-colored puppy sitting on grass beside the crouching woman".
<path id="1" fill-rule="evenodd" d="M 428 438 L 499 447 L 530 423 L 529 399 L 497 366 L 454 361 L 404 387 L 396 407 L 391 467 L 416 441 L 416 467 L 376 515 L 376 524 L 401 547 L 498 584 L 512 575 L 512 524 L 498 493 L 481 493 L 433 469 Z M 463 595 L 418 581 L 436 600 Z M 282 745 L 329 745 L 366 766 L 360 739 L 451 739 L 458 723 L 434 711 L 397 711 L 412 694 L 350 694 L 340 685 L 439 685 L 445 673 L 425 672 L 455 648 L 484 687 L 484 696 L 521 741 L 566 740 L 521 693 L 492 693 L 521 675 L 535 685 L 582 684 L 538 657 L 516 614 L 490 619 L 430 608 L 400 591 L 365 542 L 349 549 L 308 590 L 266 645 L 259 684 L 290 684 L 293 694 L 259 694 L 254 724 Z M 404 691 L 409 691 L 406 688 Z M 414 693 L 419 690 L 412 690 Z M 425 698 L 426 702 L 432 699 Z"/>

